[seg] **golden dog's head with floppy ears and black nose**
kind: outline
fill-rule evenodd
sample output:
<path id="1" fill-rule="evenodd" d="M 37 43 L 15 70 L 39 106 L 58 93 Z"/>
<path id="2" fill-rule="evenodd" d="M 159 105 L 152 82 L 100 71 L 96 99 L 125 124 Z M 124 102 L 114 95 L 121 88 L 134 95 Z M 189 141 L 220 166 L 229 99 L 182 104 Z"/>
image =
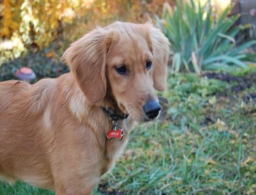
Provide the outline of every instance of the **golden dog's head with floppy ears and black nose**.
<path id="1" fill-rule="evenodd" d="M 168 39 L 152 24 L 116 22 L 71 44 L 63 59 L 90 104 L 112 99 L 148 121 L 160 110 L 154 88 L 166 88 L 168 52 Z"/>

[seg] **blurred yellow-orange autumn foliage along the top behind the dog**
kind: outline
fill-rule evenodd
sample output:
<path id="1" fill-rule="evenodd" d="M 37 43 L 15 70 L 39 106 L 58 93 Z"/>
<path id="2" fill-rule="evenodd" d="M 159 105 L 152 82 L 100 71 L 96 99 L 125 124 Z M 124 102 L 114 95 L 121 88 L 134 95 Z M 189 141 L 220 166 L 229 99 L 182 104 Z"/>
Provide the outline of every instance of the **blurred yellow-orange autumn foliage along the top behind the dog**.
<path id="1" fill-rule="evenodd" d="M 148 21 L 162 12 L 165 2 L 174 4 L 174 0 L 0 0 L 0 37 L 19 36 L 27 46 L 41 48 L 81 24 L 86 31 L 115 20 Z"/>

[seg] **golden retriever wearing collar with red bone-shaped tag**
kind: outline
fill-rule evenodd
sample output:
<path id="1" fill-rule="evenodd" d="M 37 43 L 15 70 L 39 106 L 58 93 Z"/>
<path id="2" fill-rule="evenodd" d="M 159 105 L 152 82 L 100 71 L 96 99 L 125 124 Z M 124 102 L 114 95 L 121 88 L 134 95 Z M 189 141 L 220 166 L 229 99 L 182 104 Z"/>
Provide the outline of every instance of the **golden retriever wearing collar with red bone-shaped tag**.
<path id="1" fill-rule="evenodd" d="M 151 23 L 115 22 L 72 43 L 69 73 L 0 83 L 0 176 L 60 194 L 91 194 L 137 122 L 160 112 L 169 41 Z"/>

